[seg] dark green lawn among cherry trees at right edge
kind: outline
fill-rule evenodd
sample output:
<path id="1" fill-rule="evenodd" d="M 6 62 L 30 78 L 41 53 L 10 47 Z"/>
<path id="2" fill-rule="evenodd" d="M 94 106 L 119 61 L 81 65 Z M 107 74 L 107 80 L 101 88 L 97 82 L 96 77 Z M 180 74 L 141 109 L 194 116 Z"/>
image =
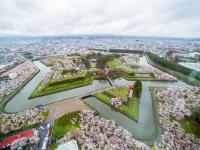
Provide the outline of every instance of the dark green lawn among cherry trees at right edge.
<path id="1" fill-rule="evenodd" d="M 181 127 L 186 133 L 191 133 L 200 138 L 200 125 L 193 117 L 188 117 L 180 121 Z"/>

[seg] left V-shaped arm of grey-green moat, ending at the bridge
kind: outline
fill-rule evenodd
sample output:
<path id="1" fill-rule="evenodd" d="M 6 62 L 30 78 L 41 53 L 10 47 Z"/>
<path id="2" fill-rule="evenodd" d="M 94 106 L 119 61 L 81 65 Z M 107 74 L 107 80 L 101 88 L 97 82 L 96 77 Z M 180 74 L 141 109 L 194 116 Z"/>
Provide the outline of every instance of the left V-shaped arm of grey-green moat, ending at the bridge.
<path id="1" fill-rule="evenodd" d="M 35 61 L 34 63 L 40 69 L 40 72 L 5 105 L 4 110 L 6 112 L 19 112 L 33 108 L 37 105 L 46 105 L 68 98 L 81 96 L 110 86 L 109 82 L 106 80 L 94 80 L 93 83 L 88 86 L 29 99 L 29 96 L 35 90 L 40 81 L 49 71 L 51 71 L 49 67 L 39 61 Z"/>

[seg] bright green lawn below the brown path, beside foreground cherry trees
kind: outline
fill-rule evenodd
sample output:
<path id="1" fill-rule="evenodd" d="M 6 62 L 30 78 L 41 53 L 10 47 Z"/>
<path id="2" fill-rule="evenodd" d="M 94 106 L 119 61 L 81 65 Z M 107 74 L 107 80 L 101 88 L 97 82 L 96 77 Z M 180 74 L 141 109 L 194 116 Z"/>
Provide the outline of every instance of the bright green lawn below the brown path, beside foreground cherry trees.
<path id="1" fill-rule="evenodd" d="M 56 120 L 53 126 L 53 138 L 61 138 L 72 129 L 79 128 L 79 121 L 71 123 L 72 118 L 79 118 L 79 113 L 80 111 L 71 112 Z"/>

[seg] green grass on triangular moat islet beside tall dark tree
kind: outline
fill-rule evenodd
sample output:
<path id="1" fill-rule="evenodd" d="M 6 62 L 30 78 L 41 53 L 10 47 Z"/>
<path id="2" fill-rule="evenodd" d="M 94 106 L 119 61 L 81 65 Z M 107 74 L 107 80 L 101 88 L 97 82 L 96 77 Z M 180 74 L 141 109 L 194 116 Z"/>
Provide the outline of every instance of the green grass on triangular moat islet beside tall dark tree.
<path id="1" fill-rule="evenodd" d="M 128 89 L 128 88 L 127 88 Z M 122 97 L 125 98 L 125 95 L 128 93 L 126 88 L 120 88 L 119 89 L 109 89 L 106 90 L 106 92 L 110 92 L 112 95 L 115 95 L 116 97 Z M 102 102 L 106 103 L 109 106 L 111 105 L 111 99 L 103 94 L 102 92 L 93 94 L 94 97 L 101 100 Z M 122 104 L 119 108 L 115 108 L 119 112 L 123 113 L 124 115 L 128 116 L 129 118 L 133 120 L 138 119 L 138 113 L 139 113 L 139 100 L 137 98 L 133 98 L 131 100 L 128 100 L 126 104 Z"/>

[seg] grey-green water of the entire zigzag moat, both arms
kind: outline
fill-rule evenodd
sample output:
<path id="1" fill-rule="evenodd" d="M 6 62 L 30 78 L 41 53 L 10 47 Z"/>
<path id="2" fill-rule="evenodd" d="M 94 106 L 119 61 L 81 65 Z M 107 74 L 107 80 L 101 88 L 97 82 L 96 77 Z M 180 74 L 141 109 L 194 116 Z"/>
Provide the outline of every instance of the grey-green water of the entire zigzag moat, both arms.
<path id="1" fill-rule="evenodd" d="M 39 61 L 34 64 L 40 69 L 40 72 L 30 80 L 4 107 L 4 110 L 9 113 L 19 112 L 25 109 L 33 108 L 37 105 L 47 105 L 61 100 L 66 100 L 72 97 L 81 96 L 94 91 L 98 91 L 110 87 L 108 81 L 94 80 L 91 85 L 75 88 L 67 91 L 62 91 L 50 95 L 41 96 L 38 98 L 28 99 L 31 93 L 35 90 L 39 82 L 51 69 Z M 134 81 L 127 81 L 124 78 L 113 80 L 117 86 L 126 86 Z M 113 119 L 115 122 L 127 129 L 136 139 L 148 141 L 151 143 L 158 138 L 157 132 L 160 126 L 156 124 L 157 117 L 154 114 L 152 105 L 152 97 L 149 87 L 174 87 L 174 86 L 189 86 L 184 82 L 158 82 L 158 81 L 142 81 L 142 94 L 139 104 L 138 121 L 134 121 L 127 116 L 110 108 L 110 106 L 96 99 L 95 97 L 85 98 L 84 101 L 102 116 Z M 160 130 L 159 130 L 160 131 Z"/>

